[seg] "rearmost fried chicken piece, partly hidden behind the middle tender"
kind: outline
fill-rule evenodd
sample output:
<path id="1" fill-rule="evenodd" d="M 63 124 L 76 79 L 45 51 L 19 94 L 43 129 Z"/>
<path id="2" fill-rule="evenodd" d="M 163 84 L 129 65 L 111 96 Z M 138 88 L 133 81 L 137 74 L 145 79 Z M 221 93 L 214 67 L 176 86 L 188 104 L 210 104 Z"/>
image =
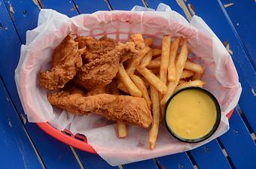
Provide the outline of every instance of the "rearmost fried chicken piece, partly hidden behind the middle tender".
<path id="1" fill-rule="evenodd" d="M 99 59 L 102 55 L 117 46 L 117 43 L 113 39 L 105 36 L 99 38 L 99 40 L 90 36 L 78 36 L 78 38 L 75 38 L 75 41 L 78 41 L 79 49 L 87 47 L 87 50 L 82 55 L 85 63 Z"/>

